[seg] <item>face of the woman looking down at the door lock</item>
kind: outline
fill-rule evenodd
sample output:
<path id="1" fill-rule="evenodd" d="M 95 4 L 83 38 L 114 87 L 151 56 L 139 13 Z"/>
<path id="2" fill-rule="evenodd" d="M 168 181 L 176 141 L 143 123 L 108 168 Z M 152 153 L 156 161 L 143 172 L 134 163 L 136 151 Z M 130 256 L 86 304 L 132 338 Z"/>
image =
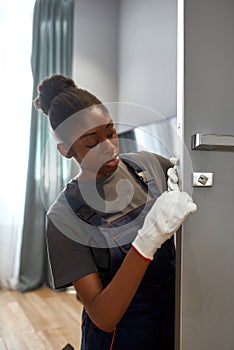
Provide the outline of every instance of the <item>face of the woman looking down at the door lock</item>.
<path id="1" fill-rule="evenodd" d="M 108 114 L 98 108 L 93 108 L 90 114 L 85 132 L 73 143 L 70 152 L 81 166 L 82 177 L 100 177 L 117 169 L 119 142 Z"/>

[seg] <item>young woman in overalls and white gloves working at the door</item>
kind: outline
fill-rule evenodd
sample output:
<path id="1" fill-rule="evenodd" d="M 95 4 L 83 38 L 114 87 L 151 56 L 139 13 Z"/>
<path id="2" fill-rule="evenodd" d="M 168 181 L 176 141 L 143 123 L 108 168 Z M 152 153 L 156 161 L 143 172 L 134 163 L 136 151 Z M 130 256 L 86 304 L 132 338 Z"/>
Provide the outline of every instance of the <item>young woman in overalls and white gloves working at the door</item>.
<path id="1" fill-rule="evenodd" d="M 70 78 L 46 77 L 35 106 L 81 169 L 47 213 L 46 235 L 55 289 L 74 285 L 84 306 L 81 349 L 172 350 L 173 234 L 196 210 L 167 188 L 177 186 L 173 164 L 119 154 L 108 110 Z"/>

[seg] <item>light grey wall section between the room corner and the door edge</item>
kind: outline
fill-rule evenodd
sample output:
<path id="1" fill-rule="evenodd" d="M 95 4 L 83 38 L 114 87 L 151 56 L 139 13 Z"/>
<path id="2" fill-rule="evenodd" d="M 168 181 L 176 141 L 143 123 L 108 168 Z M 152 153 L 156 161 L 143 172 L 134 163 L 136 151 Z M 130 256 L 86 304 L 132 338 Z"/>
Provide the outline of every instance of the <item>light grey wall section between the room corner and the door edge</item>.
<path id="1" fill-rule="evenodd" d="M 120 101 L 176 114 L 176 17 L 175 0 L 121 1 Z"/>

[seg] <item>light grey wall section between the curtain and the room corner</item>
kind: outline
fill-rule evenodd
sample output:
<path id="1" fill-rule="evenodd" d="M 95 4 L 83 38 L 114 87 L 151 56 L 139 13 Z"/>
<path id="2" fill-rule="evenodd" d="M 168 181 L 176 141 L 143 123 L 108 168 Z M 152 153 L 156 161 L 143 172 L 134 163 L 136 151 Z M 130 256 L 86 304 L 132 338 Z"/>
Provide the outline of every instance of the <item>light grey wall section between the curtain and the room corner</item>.
<path id="1" fill-rule="evenodd" d="M 73 78 L 103 102 L 118 100 L 119 1 L 76 0 Z"/>

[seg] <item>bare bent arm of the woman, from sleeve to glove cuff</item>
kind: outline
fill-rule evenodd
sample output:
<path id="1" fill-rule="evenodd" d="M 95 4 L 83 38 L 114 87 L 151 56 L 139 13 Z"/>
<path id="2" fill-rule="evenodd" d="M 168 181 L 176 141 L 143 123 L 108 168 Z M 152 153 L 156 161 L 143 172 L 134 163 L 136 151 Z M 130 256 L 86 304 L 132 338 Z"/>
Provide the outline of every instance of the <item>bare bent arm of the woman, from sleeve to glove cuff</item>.
<path id="1" fill-rule="evenodd" d="M 130 304 L 150 261 L 131 248 L 106 288 L 98 273 L 87 275 L 73 285 L 92 321 L 112 332 Z"/>

